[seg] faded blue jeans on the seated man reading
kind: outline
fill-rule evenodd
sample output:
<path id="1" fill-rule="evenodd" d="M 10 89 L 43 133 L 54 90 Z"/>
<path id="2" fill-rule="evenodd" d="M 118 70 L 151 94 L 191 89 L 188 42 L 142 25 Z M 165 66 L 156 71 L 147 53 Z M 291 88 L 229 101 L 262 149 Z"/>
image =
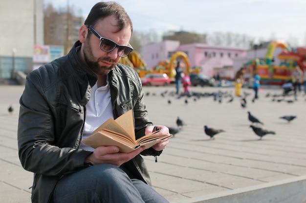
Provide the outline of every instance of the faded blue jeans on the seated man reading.
<path id="1" fill-rule="evenodd" d="M 64 176 L 53 195 L 54 203 L 169 203 L 150 185 L 110 164 L 89 166 Z"/>

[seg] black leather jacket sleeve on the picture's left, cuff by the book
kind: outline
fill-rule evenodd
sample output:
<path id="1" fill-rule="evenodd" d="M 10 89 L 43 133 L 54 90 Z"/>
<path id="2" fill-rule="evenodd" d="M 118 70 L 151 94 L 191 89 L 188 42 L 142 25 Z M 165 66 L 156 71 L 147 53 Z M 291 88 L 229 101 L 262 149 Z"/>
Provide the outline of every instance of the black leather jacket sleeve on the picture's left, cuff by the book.
<path id="1" fill-rule="evenodd" d="M 48 176 L 61 176 L 86 167 L 84 160 L 91 152 L 73 146 L 59 148 L 55 145 L 55 118 L 49 108 L 50 103 L 37 75 L 29 75 L 20 99 L 18 123 L 18 149 L 22 167 Z"/>

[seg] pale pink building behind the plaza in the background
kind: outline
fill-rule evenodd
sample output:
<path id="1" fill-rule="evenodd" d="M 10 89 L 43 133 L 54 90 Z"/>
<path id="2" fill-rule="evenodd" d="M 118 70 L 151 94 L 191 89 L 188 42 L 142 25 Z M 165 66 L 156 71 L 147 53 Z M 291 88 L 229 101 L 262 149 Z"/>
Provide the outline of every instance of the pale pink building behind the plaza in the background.
<path id="1" fill-rule="evenodd" d="M 183 44 L 179 41 L 165 40 L 142 48 L 142 57 L 147 63 L 147 69 L 154 67 L 159 61 L 170 59 L 177 52 L 188 55 L 190 67 L 200 66 L 202 73 L 214 76 L 214 69 L 232 67 L 233 59 L 244 57 L 246 49 L 238 47 L 224 47 L 200 43 Z"/>

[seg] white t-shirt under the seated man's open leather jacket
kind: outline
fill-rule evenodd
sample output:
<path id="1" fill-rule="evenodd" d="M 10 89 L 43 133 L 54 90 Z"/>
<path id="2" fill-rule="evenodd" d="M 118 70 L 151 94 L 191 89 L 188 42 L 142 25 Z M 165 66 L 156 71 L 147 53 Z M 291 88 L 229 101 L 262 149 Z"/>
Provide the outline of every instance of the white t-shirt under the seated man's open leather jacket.
<path id="1" fill-rule="evenodd" d="M 109 118 L 113 117 L 109 80 L 107 79 L 107 84 L 105 86 L 98 88 L 96 83 L 91 89 L 91 96 L 86 105 L 85 125 L 82 140 L 90 136 L 95 129 Z M 80 148 L 87 151 L 94 150 L 94 148 L 88 147 L 83 143 L 81 143 Z"/>

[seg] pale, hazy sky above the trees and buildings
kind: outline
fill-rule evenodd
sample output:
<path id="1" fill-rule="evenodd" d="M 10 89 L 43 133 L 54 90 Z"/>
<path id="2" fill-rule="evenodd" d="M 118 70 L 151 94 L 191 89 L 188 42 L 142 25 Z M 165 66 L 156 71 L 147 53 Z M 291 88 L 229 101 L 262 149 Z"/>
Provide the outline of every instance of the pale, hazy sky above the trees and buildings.
<path id="1" fill-rule="evenodd" d="M 129 14 L 135 31 L 154 30 L 213 35 L 247 35 L 254 42 L 280 39 L 306 46 L 306 0 L 114 0 Z M 70 5 L 87 17 L 99 0 L 44 0 L 55 8 Z"/>

